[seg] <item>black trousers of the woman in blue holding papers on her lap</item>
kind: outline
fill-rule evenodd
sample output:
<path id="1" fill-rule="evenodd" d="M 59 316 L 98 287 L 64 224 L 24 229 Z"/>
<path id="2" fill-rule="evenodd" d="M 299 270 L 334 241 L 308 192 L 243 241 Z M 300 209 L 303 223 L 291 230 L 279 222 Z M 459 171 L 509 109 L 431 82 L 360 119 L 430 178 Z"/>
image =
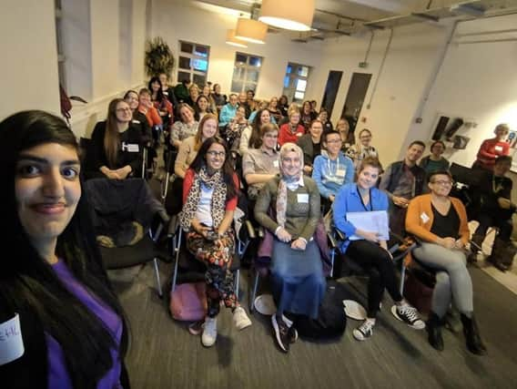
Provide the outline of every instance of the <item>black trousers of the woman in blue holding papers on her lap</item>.
<path id="1" fill-rule="evenodd" d="M 382 294 L 386 289 L 395 302 L 400 302 L 402 296 L 397 285 L 397 277 L 388 251 L 372 241 L 350 241 L 346 251 L 352 261 L 358 263 L 369 272 L 368 282 L 368 317 L 375 318 L 379 312 Z"/>

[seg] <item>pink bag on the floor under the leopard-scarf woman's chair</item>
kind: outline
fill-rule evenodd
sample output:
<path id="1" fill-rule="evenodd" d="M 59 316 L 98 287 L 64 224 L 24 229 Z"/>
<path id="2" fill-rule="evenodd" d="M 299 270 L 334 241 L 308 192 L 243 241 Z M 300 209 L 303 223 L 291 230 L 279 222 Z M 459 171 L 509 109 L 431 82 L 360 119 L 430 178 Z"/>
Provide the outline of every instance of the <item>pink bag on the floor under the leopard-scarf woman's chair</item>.
<path id="1" fill-rule="evenodd" d="M 197 322 L 207 315 L 205 282 L 179 283 L 170 292 L 170 314 L 179 321 Z"/>

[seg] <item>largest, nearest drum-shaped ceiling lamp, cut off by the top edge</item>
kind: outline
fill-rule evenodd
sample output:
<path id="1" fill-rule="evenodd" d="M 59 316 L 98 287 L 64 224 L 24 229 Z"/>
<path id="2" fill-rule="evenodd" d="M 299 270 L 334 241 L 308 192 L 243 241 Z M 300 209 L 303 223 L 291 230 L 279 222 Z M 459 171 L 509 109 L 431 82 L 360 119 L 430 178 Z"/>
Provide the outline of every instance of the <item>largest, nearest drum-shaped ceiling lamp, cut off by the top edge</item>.
<path id="1" fill-rule="evenodd" d="M 309 31 L 316 0 L 262 0 L 259 21 L 294 31 Z"/>

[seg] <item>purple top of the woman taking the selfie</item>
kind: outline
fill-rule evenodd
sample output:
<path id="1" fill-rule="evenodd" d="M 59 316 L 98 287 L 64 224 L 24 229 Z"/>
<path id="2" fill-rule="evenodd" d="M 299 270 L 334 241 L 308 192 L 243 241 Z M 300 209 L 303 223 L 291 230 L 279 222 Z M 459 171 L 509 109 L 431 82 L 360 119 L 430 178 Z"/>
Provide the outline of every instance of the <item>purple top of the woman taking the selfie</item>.
<path id="1" fill-rule="evenodd" d="M 115 333 L 117 344 L 119 344 L 122 337 L 122 321 L 117 316 L 117 313 L 113 312 L 103 302 L 100 302 L 91 292 L 88 292 L 85 286 L 78 282 L 72 272 L 68 270 L 64 261 L 57 261 L 52 265 L 52 268 L 56 271 L 56 275 L 61 282 L 65 284 L 66 289 L 75 294 L 79 301 L 83 302 L 91 312 L 94 312 L 111 333 Z M 63 350 L 59 343 L 56 342 L 56 339 L 48 333 L 46 333 L 46 346 L 48 348 L 48 387 L 53 389 L 73 389 L 72 381 L 66 371 Z M 113 358 L 113 366 L 98 382 L 97 389 L 122 388 L 122 385 L 119 383 L 121 366 L 118 359 L 118 351 L 111 350 L 110 353 Z"/>

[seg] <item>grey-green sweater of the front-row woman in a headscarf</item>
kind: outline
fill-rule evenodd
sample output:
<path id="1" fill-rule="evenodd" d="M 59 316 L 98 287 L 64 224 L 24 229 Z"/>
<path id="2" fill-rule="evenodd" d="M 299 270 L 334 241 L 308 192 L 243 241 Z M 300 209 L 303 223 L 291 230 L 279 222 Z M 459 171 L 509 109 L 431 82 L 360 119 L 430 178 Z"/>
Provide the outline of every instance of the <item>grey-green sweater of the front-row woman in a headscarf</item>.
<path id="1" fill-rule="evenodd" d="M 279 223 L 269 216 L 269 210 L 276 214 L 279 181 L 279 177 L 269 180 L 260 191 L 255 205 L 255 219 L 273 233 Z M 319 191 L 314 180 L 309 177 L 304 177 L 303 183 L 304 186 L 299 186 L 296 190 L 288 189 L 285 229 L 293 240 L 304 238 L 309 241 L 319 221 Z"/>

